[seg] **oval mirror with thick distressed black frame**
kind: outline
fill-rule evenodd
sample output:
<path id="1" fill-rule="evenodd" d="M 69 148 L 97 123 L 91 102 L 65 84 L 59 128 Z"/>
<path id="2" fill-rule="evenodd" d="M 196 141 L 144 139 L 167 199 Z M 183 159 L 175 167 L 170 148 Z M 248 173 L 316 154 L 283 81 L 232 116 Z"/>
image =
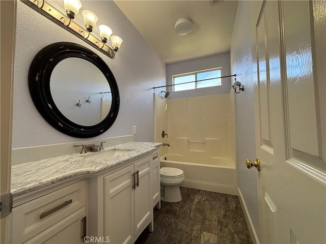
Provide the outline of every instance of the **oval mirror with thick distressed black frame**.
<path id="1" fill-rule="evenodd" d="M 96 53 L 78 44 L 43 48 L 31 64 L 29 88 L 43 118 L 69 136 L 100 135 L 118 115 L 119 90 L 111 70 Z"/>

